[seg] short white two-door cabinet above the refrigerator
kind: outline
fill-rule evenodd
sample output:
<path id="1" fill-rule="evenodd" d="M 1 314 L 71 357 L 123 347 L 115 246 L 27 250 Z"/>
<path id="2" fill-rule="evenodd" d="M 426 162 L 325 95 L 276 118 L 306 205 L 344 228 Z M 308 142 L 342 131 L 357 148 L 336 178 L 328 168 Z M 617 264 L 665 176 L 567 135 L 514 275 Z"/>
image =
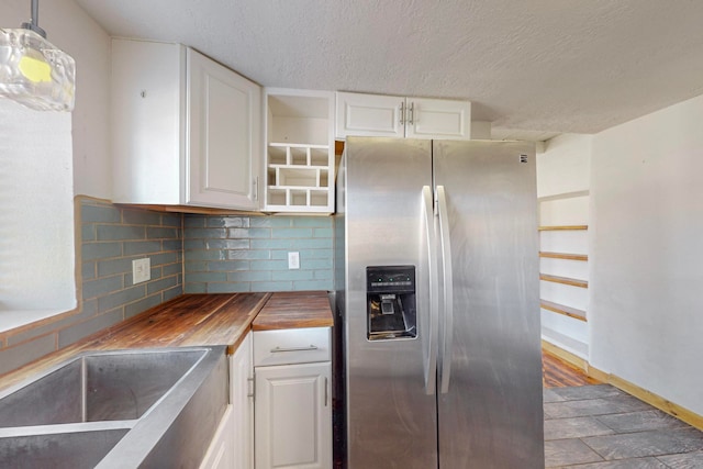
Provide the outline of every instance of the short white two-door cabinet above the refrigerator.
<path id="1" fill-rule="evenodd" d="M 471 137 L 469 101 L 336 93 L 337 138 L 348 135 L 397 138 Z"/>

